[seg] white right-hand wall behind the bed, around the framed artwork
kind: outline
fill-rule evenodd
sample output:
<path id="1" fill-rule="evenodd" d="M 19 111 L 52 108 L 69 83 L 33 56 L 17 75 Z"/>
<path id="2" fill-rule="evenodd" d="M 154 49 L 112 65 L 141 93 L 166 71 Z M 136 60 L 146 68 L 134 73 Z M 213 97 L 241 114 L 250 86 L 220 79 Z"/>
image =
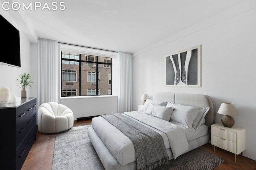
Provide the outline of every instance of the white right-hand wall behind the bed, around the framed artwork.
<path id="1" fill-rule="evenodd" d="M 133 109 L 142 94 L 152 98 L 158 91 L 209 95 L 215 112 L 222 102 L 234 103 L 235 125 L 246 128 L 244 156 L 256 160 L 255 16 L 255 1 L 246 1 L 134 53 Z M 164 87 L 164 56 L 197 45 L 202 45 L 202 87 Z M 216 113 L 216 122 L 221 117 Z"/>

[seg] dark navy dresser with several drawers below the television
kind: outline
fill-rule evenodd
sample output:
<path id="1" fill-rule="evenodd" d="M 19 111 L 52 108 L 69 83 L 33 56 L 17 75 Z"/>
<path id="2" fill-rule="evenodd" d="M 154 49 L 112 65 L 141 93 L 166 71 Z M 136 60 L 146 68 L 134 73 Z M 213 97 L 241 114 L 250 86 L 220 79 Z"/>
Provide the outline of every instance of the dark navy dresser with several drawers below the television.
<path id="1" fill-rule="evenodd" d="M 36 140 L 36 98 L 18 98 L 17 103 L 0 106 L 0 115 L 0 167 L 20 170 Z"/>

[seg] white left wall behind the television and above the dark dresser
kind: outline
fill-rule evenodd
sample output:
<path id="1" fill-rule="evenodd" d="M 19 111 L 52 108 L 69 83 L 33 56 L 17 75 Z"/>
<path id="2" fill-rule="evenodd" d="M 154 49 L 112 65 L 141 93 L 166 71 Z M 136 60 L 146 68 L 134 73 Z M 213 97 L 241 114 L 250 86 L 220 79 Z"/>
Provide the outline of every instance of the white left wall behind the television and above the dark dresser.
<path id="1" fill-rule="evenodd" d="M 6 86 L 10 89 L 10 92 L 14 93 L 17 97 L 20 97 L 20 91 L 22 90 L 21 86 L 19 85 L 19 82 L 17 81 L 17 78 L 19 78 L 18 75 L 26 72 L 30 73 L 30 41 L 26 38 L 24 33 L 20 30 L 18 25 L 12 20 L 12 18 L 9 16 L 8 13 L 2 12 L 1 15 L 6 18 L 14 27 L 16 27 L 20 31 L 20 62 L 21 67 L 13 67 L 13 66 L 7 66 L 0 64 L 0 86 Z M 2 40 L 4 41 L 4 40 Z M 4 50 L 4 49 L 1 49 Z M 1 57 L 11 57 L 11 51 L 9 56 L 1 56 Z M 34 77 L 32 77 L 32 81 L 34 81 Z M 32 84 L 34 86 L 34 84 Z M 31 88 L 26 88 L 28 91 L 28 96 L 31 96 Z"/>

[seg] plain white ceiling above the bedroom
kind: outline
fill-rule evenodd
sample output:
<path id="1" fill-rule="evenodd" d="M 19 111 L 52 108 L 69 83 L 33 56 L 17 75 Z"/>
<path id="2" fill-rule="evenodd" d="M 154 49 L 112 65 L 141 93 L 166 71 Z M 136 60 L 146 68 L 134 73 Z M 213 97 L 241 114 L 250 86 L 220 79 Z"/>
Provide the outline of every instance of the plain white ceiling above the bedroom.
<path id="1" fill-rule="evenodd" d="M 62 0 L 65 10 L 25 13 L 37 37 L 134 53 L 244 1 Z"/>

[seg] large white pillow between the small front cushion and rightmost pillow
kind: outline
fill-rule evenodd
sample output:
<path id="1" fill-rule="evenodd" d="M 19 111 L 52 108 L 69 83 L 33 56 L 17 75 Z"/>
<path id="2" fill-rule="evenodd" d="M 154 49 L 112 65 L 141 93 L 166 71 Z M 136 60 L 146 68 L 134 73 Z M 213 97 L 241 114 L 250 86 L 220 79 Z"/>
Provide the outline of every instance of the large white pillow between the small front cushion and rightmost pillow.
<path id="1" fill-rule="evenodd" d="M 170 122 L 186 127 L 191 131 L 193 121 L 196 118 L 200 107 L 184 106 L 168 102 L 167 107 L 173 107 Z"/>

